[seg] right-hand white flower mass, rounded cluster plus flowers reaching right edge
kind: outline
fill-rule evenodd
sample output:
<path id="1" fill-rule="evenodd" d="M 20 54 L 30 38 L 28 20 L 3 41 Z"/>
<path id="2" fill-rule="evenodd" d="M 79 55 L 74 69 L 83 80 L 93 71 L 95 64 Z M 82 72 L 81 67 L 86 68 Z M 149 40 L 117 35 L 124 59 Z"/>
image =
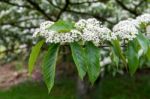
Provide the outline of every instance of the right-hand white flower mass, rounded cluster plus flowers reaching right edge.
<path id="1" fill-rule="evenodd" d="M 143 14 L 136 19 L 120 21 L 113 27 L 113 32 L 121 39 L 133 40 L 138 34 L 141 23 L 150 23 L 150 14 Z"/>

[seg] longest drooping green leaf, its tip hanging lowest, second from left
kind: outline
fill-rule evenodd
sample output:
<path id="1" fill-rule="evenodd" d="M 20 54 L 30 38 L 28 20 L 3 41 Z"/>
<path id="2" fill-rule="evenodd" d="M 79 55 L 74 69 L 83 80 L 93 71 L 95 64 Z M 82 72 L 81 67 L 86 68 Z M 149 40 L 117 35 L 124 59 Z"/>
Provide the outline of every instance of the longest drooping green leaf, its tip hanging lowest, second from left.
<path id="1" fill-rule="evenodd" d="M 51 91 L 54 85 L 58 50 L 59 50 L 58 44 L 49 45 L 48 52 L 46 53 L 43 61 L 42 72 L 43 72 L 44 81 L 48 87 L 49 92 Z"/>

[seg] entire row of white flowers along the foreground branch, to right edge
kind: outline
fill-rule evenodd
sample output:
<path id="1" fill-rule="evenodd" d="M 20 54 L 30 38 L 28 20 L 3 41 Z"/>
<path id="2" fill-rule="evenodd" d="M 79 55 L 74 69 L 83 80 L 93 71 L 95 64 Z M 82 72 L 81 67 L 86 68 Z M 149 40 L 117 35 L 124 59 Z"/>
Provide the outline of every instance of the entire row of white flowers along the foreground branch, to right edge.
<path id="1" fill-rule="evenodd" d="M 49 43 L 71 43 L 82 40 L 83 42 L 92 41 L 96 46 L 111 41 L 119 37 L 121 40 L 133 40 L 138 34 L 138 28 L 141 23 L 150 23 L 150 14 L 143 14 L 136 19 L 127 19 L 120 21 L 113 27 L 113 32 L 101 25 L 101 22 L 95 18 L 87 20 L 81 19 L 75 23 L 74 29 L 70 32 L 57 32 L 50 30 L 54 22 L 46 21 L 40 25 L 33 37 L 42 36 Z"/>

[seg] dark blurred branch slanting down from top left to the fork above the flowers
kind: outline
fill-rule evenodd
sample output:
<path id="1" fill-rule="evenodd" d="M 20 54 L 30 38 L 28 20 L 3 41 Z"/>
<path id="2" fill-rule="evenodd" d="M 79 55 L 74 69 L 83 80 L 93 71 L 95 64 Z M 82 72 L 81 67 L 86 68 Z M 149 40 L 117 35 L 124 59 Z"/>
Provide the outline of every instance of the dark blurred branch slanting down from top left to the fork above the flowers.
<path id="1" fill-rule="evenodd" d="M 41 14 L 43 14 L 48 20 L 51 20 L 53 21 L 53 19 L 51 17 L 49 17 L 47 15 L 47 13 L 40 8 L 40 6 L 36 3 L 36 2 L 33 2 L 32 0 L 27 0 L 37 11 L 39 11 Z"/>

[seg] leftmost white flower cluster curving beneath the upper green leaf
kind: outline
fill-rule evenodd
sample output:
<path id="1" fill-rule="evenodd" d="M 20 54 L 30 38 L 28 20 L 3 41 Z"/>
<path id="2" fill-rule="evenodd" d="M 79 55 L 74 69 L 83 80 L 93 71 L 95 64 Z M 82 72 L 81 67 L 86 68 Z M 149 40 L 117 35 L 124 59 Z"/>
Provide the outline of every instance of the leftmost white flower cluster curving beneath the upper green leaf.
<path id="1" fill-rule="evenodd" d="M 40 25 L 40 28 L 35 31 L 33 37 L 42 36 L 49 43 L 71 43 L 80 40 L 81 33 L 78 30 L 72 29 L 70 32 L 59 33 L 48 29 L 54 22 L 46 21 Z"/>

